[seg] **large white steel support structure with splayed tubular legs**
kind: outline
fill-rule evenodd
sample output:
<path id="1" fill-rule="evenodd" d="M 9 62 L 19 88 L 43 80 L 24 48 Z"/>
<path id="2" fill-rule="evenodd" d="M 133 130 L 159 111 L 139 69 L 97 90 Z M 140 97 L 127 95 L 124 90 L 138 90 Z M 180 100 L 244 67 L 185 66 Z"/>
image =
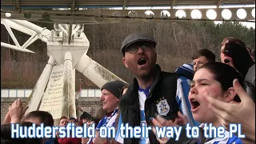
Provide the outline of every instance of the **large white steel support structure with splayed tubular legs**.
<path id="1" fill-rule="evenodd" d="M 49 89 L 47 82 L 49 82 L 51 75 L 53 74 L 52 70 L 54 66 L 63 65 L 64 71 L 62 81 L 63 90 L 61 94 L 63 103 L 62 110 L 58 111 L 58 117 L 49 110 L 56 119 L 59 118 L 59 115 L 76 116 L 74 102 L 74 69 L 84 74 L 98 87 L 101 87 L 106 82 L 116 79 L 123 81 L 121 78 L 118 78 L 118 76 L 111 73 L 105 67 L 101 66 L 98 62 L 95 62 L 86 55 L 90 42 L 86 38 L 86 34 L 83 32 L 83 25 L 54 24 L 54 30 L 47 30 L 46 28 L 34 25 L 33 23 L 25 20 L 4 18 L 1 18 L 1 24 L 6 26 L 6 30 L 9 32 L 10 37 L 14 40 L 15 44 L 14 46 L 1 42 L 2 47 L 27 53 L 34 53 L 34 51 L 26 49 L 31 43 L 37 39 L 41 39 L 42 42 L 47 43 L 47 54 L 50 58 L 45 69 L 42 71 L 38 82 L 34 86 L 34 90 L 30 94 L 29 100 L 27 101 L 29 109 L 26 110 L 26 114 L 30 111 L 38 110 L 38 105 L 42 99 L 44 90 L 47 91 Z M 29 34 L 31 37 L 21 46 L 11 28 L 25 34 Z M 44 100 L 49 101 L 49 98 L 43 99 L 42 102 L 44 102 Z M 42 106 L 40 106 L 40 109 L 44 110 Z"/>

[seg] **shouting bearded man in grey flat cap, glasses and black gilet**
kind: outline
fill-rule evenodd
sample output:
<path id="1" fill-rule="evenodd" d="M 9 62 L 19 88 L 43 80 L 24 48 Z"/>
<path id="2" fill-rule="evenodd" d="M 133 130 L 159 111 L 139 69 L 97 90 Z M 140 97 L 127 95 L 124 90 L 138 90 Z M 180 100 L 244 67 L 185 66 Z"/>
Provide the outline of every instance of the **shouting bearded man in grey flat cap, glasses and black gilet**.
<path id="1" fill-rule="evenodd" d="M 130 34 L 122 42 L 122 62 L 135 78 L 119 102 L 121 114 L 116 134 L 119 143 L 158 143 L 151 130 L 149 138 L 122 138 L 122 124 L 128 123 L 132 127 L 151 126 L 154 114 L 168 120 L 178 118 L 179 110 L 188 114 L 188 100 L 182 98 L 179 105 L 177 102 L 182 97 L 179 95 L 183 94 L 182 79 L 179 74 L 162 71 L 156 64 L 156 44 L 154 38 L 140 33 Z M 191 118 L 189 115 L 187 117 Z"/>

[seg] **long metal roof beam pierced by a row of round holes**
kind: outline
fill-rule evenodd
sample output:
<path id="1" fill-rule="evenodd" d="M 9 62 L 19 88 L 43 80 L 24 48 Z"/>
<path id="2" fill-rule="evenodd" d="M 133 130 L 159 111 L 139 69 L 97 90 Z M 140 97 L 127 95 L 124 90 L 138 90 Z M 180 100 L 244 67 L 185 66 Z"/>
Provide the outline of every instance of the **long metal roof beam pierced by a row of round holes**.
<path id="1" fill-rule="evenodd" d="M 169 1 L 170 2 L 170 1 Z M 217 2 L 216 2 L 217 3 Z M 128 5 L 127 5 L 128 6 Z M 170 6 L 170 5 L 169 5 Z M 176 5 L 177 6 L 177 5 Z M 216 6 L 216 5 L 215 5 Z M 232 16 L 230 19 L 225 19 L 225 21 L 239 21 L 239 22 L 253 22 L 255 19 L 251 13 L 251 11 L 254 9 L 254 7 L 246 7 L 246 18 L 240 19 L 238 18 L 236 12 L 240 8 L 229 8 L 229 10 L 232 13 Z M 166 10 L 166 9 L 163 9 Z M 146 10 L 133 10 L 135 16 L 129 16 L 127 17 L 127 14 L 129 10 L 76 10 L 75 13 L 70 14 L 70 10 L 61 10 L 61 11 L 53 11 L 53 10 L 21 10 L 20 12 L 16 10 L 9 10 L 9 11 L 2 11 L 1 16 L 2 18 L 6 18 L 6 12 L 11 13 L 10 18 L 14 19 L 28 19 L 24 16 L 26 13 L 31 14 L 31 18 L 29 20 L 31 22 L 38 22 L 42 19 L 42 14 L 45 14 L 46 12 L 50 14 L 50 23 L 67 23 L 67 24 L 82 24 L 82 23 L 98 23 L 98 22 L 164 22 L 164 21 L 173 21 L 173 20 L 193 20 L 191 17 L 191 12 L 193 9 L 185 9 L 184 12 L 186 13 L 186 18 L 176 18 L 175 14 L 178 11 L 178 9 L 170 9 L 166 10 L 170 13 L 170 16 L 166 18 L 161 17 L 162 10 L 151 10 L 154 13 L 154 16 L 152 16 L 150 19 L 145 16 Z M 200 12 L 202 13 L 201 20 L 211 20 L 206 16 L 206 12 L 209 9 L 200 9 Z M 217 13 L 217 17 L 214 19 L 214 21 L 222 21 L 222 10 L 223 8 L 214 9 Z M 99 13 L 100 11 L 100 13 Z M 115 13 L 119 12 L 119 15 L 114 15 Z M 10 21 L 14 21 L 14 19 L 11 19 Z M 198 20 L 198 19 L 194 19 Z M 48 22 L 48 21 L 45 21 Z M 22 22 L 23 23 L 23 22 Z M 22 25 L 21 23 L 21 25 Z M 48 22 L 49 23 L 49 22 Z M 23 25 L 22 25 L 23 26 Z M 41 30 L 36 30 L 38 33 L 41 33 Z"/>

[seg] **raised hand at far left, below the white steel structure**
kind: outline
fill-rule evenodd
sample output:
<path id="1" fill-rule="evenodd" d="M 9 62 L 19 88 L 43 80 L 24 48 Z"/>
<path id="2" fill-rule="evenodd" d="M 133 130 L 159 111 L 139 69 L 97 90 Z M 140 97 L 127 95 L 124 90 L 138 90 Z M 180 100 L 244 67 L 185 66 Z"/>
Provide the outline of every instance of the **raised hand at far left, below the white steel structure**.
<path id="1" fill-rule="evenodd" d="M 17 122 L 19 122 L 25 111 L 26 110 L 23 109 L 23 107 L 22 107 L 22 102 L 21 102 L 20 98 L 16 99 L 9 106 L 10 123 L 17 123 Z"/>

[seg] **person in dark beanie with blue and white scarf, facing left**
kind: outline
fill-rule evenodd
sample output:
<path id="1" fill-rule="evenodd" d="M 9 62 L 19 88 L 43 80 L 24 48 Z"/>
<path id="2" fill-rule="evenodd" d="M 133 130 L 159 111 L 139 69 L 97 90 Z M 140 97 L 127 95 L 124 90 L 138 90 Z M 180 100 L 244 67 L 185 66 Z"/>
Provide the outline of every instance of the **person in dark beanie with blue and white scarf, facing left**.
<path id="1" fill-rule="evenodd" d="M 99 130 L 100 127 L 115 127 L 115 119 L 118 115 L 118 103 L 119 98 L 122 95 L 122 87 L 126 86 L 125 82 L 121 82 L 119 80 L 113 82 L 106 82 L 101 88 L 102 96 L 100 100 L 102 101 L 102 109 L 106 110 L 107 114 L 104 118 L 102 118 L 98 125 L 96 126 L 96 130 Z M 99 137 L 98 131 L 96 131 L 96 137 L 89 140 L 89 143 L 106 143 L 109 142 L 108 138 Z"/>

